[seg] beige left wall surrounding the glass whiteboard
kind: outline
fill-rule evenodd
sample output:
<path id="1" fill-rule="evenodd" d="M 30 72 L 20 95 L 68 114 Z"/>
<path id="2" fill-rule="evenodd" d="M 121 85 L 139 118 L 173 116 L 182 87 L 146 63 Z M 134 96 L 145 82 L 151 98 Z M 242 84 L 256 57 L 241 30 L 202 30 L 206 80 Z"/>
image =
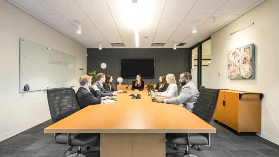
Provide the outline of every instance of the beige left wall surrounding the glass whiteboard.
<path id="1" fill-rule="evenodd" d="M 76 56 L 77 85 L 86 48 L 0 0 L 0 141 L 50 119 L 46 91 L 19 93 L 19 38 Z M 78 70 L 84 68 L 84 71 Z M 75 87 L 77 89 L 78 86 Z"/>

